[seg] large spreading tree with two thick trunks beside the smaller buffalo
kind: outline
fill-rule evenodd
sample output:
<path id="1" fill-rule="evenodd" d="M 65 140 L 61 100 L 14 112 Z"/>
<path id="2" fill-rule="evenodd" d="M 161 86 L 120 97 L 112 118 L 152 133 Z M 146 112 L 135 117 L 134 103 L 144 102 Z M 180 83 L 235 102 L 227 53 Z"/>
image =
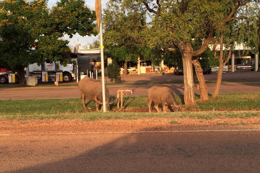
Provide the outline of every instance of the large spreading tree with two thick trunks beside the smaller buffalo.
<path id="1" fill-rule="evenodd" d="M 139 7 L 151 17 L 149 45 L 178 48 L 184 70 L 184 102 L 195 105 L 192 64 L 198 78 L 202 100 L 208 100 L 208 88 L 198 59 L 226 23 L 241 18 L 252 0 L 125 0 L 132 8 Z M 130 5 L 131 4 L 131 5 Z M 235 27 L 235 26 L 234 26 Z M 218 37 L 219 38 L 219 37 Z M 195 44 L 200 46 L 194 47 Z"/>

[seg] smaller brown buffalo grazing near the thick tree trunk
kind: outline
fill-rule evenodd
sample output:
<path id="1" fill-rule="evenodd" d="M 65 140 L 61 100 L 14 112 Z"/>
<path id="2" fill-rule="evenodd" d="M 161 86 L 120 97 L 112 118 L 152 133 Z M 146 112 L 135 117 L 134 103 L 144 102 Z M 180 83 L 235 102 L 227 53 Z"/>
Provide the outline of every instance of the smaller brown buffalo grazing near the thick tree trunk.
<path id="1" fill-rule="evenodd" d="M 154 102 L 154 108 L 160 112 L 159 104 L 163 106 L 163 112 L 166 112 L 168 105 L 173 108 L 173 111 L 180 111 L 181 105 L 176 102 L 173 91 L 165 86 L 153 86 L 148 89 L 148 109 L 151 112 L 151 104 Z"/>

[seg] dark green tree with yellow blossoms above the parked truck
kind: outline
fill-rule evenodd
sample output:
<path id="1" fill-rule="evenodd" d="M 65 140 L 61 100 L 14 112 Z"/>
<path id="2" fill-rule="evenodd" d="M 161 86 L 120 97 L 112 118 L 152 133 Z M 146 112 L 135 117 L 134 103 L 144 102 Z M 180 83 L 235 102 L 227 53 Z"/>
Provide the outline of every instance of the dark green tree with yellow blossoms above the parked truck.
<path id="1" fill-rule="evenodd" d="M 46 59 L 64 64 L 70 61 L 66 55 L 68 40 L 62 39 L 65 34 L 97 34 L 95 12 L 83 0 L 61 0 L 51 9 L 47 2 L 0 2 L 0 66 L 18 72 L 22 85 L 23 70 L 28 64 L 42 64 Z"/>

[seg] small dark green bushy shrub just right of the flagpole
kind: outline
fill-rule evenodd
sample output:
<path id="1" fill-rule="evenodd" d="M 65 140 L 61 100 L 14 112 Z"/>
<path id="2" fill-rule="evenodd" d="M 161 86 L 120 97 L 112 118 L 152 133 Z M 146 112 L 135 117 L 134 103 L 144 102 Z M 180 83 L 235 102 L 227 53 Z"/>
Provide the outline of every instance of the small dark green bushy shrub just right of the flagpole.
<path id="1" fill-rule="evenodd" d="M 108 65 L 107 68 L 108 78 L 111 82 L 116 83 L 121 81 L 120 68 L 115 60 Z"/>

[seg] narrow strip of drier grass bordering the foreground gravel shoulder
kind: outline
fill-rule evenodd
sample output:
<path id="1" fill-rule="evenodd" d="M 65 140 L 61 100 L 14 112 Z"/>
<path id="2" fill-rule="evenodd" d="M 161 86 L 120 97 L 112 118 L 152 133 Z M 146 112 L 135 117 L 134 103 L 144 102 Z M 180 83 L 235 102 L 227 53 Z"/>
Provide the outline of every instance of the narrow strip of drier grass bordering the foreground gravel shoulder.
<path id="1" fill-rule="evenodd" d="M 245 116 L 246 115 L 246 116 Z M 140 118 L 195 118 L 195 119 L 214 119 L 221 117 L 239 117 L 246 118 L 250 116 L 260 116 L 259 111 L 202 111 L 202 112 L 173 112 L 173 113 L 115 113 L 115 112 L 88 112 L 88 113 L 59 113 L 59 114 L 1 114 L 0 119 L 82 119 L 85 121 L 93 121 L 97 119 L 140 119 Z M 170 122 L 176 124 L 177 122 Z M 238 125 L 242 125 L 239 123 Z"/>

